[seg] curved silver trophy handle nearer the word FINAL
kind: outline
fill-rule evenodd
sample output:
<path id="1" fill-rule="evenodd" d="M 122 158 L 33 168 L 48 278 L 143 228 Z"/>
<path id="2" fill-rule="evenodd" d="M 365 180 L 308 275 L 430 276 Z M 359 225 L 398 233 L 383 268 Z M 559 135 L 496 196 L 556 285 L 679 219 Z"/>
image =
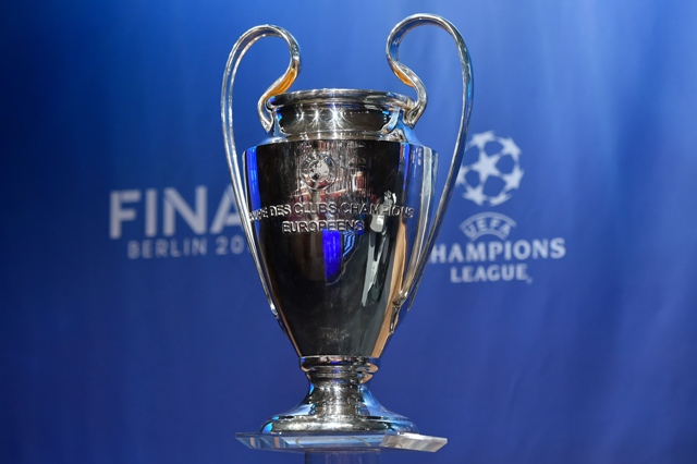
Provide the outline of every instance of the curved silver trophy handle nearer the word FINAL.
<path id="1" fill-rule="evenodd" d="M 261 285 L 264 286 L 264 293 L 271 305 L 271 312 L 279 318 L 278 310 L 276 309 L 276 304 L 273 303 L 273 298 L 271 297 L 271 292 L 269 290 L 269 283 L 266 280 L 266 273 L 262 270 L 261 262 L 259 260 L 259 253 L 257 246 L 254 241 L 254 234 L 252 233 L 252 221 L 249 219 L 249 211 L 247 208 L 247 184 L 244 180 L 244 176 L 240 173 L 240 160 L 237 157 L 237 151 L 235 149 L 234 134 L 232 127 L 232 89 L 235 81 L 235 74 L 237 73 L 237 66 L 240 65 L 240 61 L 242 57 L 247 52 L 249 47 L 254 45 L 257 40 L 264 37 L 280 37 L 288 44 L 289 51 L 291 53 L 291 61 L 285 70 L 285 73 L 267 90 L 264 93 L 261 98 L 257 103 L 257 112 L 259 114 L 259 122 L 264 126 L 266 132 L 269 132 L 273 126 L 273 118 L 271 112 L 266 108 L 266 101 L 270 97 L 282 94 L 288 90 L 297 74 L 301 72 L 301 49 L 295 41 L 295 38 L 285 29 L 272 26 L 272 25 L 261 25 L 256 26 L 247 30 L 240 39 L 235 42 L 232 51 L 230 52 L 230 57 L 228 58 L 228 64 L 225 65 L 225 73 L 222 80 L 222 95 L 221 95 L 221 118 L 222 118 L 222 133 L 225 138 L 225 152 L 228 155 L 228 167 L 230 168 L 230 176 L 232 178 L 232 191 L 235 195 L 235 200 L 237 202 L 237 212 L 240 213 L 240 219 L 242 222 L 242 229 L 244 230 L 245 235 L 247 236 L 247 243 L 249 244 L 249 252 L 252 253 L 252 257 L 254 258 L 254 264 L 257 267 L 257 271 L 259 272 L 259 278 L 261 279 Z"/>

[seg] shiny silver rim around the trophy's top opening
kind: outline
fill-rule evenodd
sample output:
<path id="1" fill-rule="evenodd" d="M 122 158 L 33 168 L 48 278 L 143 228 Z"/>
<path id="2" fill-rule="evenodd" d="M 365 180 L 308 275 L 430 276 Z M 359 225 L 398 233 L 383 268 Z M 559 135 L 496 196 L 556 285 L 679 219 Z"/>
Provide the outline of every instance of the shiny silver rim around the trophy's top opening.
<path id="1" fill-rule="evenodd" d="M 405 111 L 416 105 L 412 98 L 394 91 L 353 88 L 318 88 L 288 91 L 270 97 L 266 105 L 270 110 L 276 110 L 295 105 L 326 103 L 370 105 Z"/>

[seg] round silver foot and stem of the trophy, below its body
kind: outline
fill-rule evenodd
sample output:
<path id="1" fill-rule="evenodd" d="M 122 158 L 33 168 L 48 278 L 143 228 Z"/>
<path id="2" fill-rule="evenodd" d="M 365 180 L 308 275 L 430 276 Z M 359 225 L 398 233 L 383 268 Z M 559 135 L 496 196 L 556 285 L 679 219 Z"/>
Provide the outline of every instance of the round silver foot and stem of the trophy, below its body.
<path id="1" fill-rule="evenodd" d="M 414 423 L 384 408 L 368 390 L 376 362 L 363 356 L 302 357 L 309 392 L 293 410 L 264 423 L 261 434 L 418 434 Z"/>

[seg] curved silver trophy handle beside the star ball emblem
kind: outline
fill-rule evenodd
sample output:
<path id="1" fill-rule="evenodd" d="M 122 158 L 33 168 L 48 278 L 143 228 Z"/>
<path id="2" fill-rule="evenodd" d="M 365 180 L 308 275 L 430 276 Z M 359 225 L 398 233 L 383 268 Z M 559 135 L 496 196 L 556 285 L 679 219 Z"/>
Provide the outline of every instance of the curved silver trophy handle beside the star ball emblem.
<path id="1" fill-rule="evenodd" d="M 419 249 L 417 249 L 417 253 L 412 259 L 412 262 L 409 262 L 409 267 L 404 279 L 404 285 L 394 301 L 395 313 L 398 313 L 402 305 L 404 305 L 404 303 L 412 295 L 414 295 L 414 292 L 418 288 L 421 277 L 424 276 L 424 271 L 426 270 L 428 254 L 430 253 L 430 249 L 433 246 L 433 242 L 436 241 L 436 236 L 438 235 L 438 231 L 442 223 L 443 213 L 445 212 L 445 208 L 448 207 L 448 203 L 450 202 L 450 197 L 452 196 L 453 187 L 457 179 L 457 172 L 460 171 L 460 166 L 462 164 L 462 157 L 465 152 L 464 142 L 467 137 L 467 130 L 469 129 L 469 118 L 472 115 L 474 82 L 472 76 L 472 63 L 469 60 L 469 53 L 467 52 L 465 40 L 462 38 L 455 26 L 450 21 L 435 14 L 415 14 L 404 19 L 400 24 L 394 26 L 394 28 L 390 33 L 390 36 L 388 37 L 387 44 L 387 56 L 390 68 L 400 78 L 400 81 L 416 90 L 416 102 L 414 103 L 414 107 L 412 109 L 406 111 L 404 115 L 404 122 L 409 127 L 414 127 L 416 121 L 418 121 L 420 115 L 424 113 L 424 110 L 426 109 L 428 97 L 426 95 L 426 88 L 424 87 L 424 83 L 421 82 L 421 80 L 418 78 L 414 71 L 399 61 L 400 44 L 402 42 L 402 39 L 407 32 L 415 27 L 425 25 L 438 26 L 448 32 L 448 34 L 450 34 L 455 40 L 457 54 L 460 56 L 460 62 L 462 64 L 462 115 L 460 118 L 460 129 L 457 131 L 457 139 L 455 142 L 453 158 L 450 164 L 450 170 L 448 171 L 445 186 L 443 187 L 443 193 L 441 194 L 438 209 L 436 210 L 436 216 L 433 217 L 432 223 L 430 224 L 424 245 L 420 246 Z M 427 227 L 427 224 L 425 224 L 424 227 Z M 425 234 L 425 231 L 423 232 L 423 234 Z M 392 327 L 392 330 L 394 330 L 394 327 Z"/>

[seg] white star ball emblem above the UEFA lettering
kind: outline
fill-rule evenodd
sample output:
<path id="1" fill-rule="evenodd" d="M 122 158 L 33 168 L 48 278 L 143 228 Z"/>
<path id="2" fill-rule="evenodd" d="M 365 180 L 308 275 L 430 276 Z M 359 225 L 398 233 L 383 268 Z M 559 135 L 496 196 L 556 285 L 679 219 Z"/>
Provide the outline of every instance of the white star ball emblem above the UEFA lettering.
<path id="1" fill-rule="evenodd" d="M 474 134 L 455 186 L 465 187 L 463 197 L 478 206 L 498 206 L 521 185 L 521 148 L 513 138 L 498 137 L 493 131 Z"/>

